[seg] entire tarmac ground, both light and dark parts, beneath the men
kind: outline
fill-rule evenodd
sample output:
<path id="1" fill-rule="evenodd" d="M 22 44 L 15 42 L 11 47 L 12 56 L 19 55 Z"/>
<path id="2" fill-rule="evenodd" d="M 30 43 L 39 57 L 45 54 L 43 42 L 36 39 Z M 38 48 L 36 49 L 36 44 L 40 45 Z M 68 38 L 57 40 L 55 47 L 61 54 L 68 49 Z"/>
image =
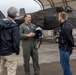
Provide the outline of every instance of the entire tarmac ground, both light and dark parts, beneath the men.
<path id="1" fill-rule="evenodd" d="M 20 45 L 20 54 L 18 55 L 18 68 L 17 75 L 25 75 L 24 64 L 23 64 L 23 50 Z M 43 42 L 38 50 L 39 52 L 39 64 L 40 64 L 40 75 L 63 75 L 62 68 L 60 65 L 59 49 L 58 44 Z M 70 65 L 73 75 L 76 75 L 76 50 L 73 50 L 70 59 Z M 32 59 L 30 58 L 30 71 L 31 75 L 34 75 Z M 6 68 L 4 70 L 6 75 Z"/>

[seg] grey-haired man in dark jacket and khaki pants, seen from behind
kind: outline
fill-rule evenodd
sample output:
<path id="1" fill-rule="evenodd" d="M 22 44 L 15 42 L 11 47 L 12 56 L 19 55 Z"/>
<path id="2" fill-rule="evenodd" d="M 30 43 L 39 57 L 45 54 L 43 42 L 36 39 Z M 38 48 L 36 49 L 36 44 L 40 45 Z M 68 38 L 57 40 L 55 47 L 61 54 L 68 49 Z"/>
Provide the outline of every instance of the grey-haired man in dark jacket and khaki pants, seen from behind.
<path id="1" fill-rule="evenodd" d="M 0 21 L 0 75 L 7 65 L 7 75 L 16 75 L 17 55 L 19 54 L 19 27 L 14 21 L 17 9 L 11 7 L 8 17 Z"/>

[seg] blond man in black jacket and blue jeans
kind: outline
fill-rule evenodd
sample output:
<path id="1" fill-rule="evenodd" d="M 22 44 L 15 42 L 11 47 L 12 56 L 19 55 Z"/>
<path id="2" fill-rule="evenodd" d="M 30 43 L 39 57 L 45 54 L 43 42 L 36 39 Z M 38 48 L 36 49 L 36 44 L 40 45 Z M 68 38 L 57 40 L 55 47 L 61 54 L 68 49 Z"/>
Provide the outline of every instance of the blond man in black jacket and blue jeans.
<path id="1" fill-rule="evenodd" d="M 61 32 L 59 36 L 60 63 L 63 69 L 63 74 L 72 75 L 69 64 L 70 55 L 72 54 L 74 47 L 72 27 L 68 21 L 68 14 L 66 12 L 59 13 L 58 20 L 61 26 Z"/>

